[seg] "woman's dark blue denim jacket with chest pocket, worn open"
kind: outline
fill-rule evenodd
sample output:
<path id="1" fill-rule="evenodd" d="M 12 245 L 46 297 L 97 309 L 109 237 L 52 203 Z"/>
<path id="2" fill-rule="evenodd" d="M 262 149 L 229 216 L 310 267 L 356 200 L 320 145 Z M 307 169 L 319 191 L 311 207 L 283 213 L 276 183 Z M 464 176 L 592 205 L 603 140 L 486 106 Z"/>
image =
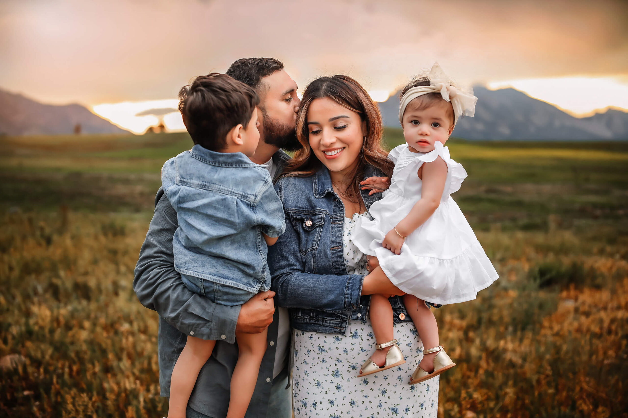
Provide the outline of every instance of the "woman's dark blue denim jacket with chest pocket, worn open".
<path id="1" fill-rule="evenodd" d="M 364 179 L 384 175 L 369 167 Z M 327 168 L 310 177 L 283 177 L 275 184 L 286 213 L 286 231 L 268 251 L 277 305 L 290 308 L 301 331 L 344 334 L 349 320 L 366 321 L 369 296 L 360 274 L 347 274 L 342 251 L 345 209 Z M 361 191 L 367 208 L 381 199 Z M 410 321 L 399 296 L 390 298 L 394 323 Z M 403 315 L 402 315 L 403 314 Z M 403 318 L 403 319 L 402 319 Z"/>

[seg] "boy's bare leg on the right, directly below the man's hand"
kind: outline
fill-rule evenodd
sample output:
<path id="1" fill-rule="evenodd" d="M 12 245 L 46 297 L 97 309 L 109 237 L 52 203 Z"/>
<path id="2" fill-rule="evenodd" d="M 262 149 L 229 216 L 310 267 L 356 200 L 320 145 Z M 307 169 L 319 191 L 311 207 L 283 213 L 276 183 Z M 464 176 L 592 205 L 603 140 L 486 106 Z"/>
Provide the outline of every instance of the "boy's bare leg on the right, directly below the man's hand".
<path id="1" fill-rule="evenodd" d="M 231 396 L 227 418 L 242 418 L 246 414 L 257 383 L 259 366 L 266 353 L 267 333 L 268 330 L 259 334 L 236 332 L 239 353 L 236 368 L 231 376 Z"/>

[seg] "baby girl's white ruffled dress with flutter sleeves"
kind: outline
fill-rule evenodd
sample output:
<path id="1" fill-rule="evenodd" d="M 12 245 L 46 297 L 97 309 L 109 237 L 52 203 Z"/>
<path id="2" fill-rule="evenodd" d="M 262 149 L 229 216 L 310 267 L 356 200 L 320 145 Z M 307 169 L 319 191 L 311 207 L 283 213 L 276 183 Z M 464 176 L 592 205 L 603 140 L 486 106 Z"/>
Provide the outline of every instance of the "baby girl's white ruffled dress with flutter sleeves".
<path id="1" fill-rule="evenodd" d="M 467 219 L 449 196 L 460 189 L 467 172 L 452 160 L 447 147 L 435 142 L 431 152 L 411 152 L 399 145 L 389 154 L 395 163 L 391 185 L 369 212 L 373 220 L 358 219 L 353 233 L 355 246 L 377 256 L 386 276 L 402 291 L 422 300 L 447 305 L 475 299 L 477 293 L 499 277 Z M 447 163 L 447 180 L 440 205 L 423 225 L 409 234 L 394 254 L 381 243 L 388 231 L 421 199 L 418 169 L 440 157 Z"/>

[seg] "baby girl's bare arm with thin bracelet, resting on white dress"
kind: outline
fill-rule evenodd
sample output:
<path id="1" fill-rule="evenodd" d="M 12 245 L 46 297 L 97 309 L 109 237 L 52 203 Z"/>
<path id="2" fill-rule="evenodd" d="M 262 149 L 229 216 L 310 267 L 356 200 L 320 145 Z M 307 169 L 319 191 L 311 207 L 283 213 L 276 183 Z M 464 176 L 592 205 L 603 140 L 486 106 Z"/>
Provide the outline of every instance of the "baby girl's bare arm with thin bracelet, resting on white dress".
<path id="1" fill-rule="evenodd" d="M 447 164 L 441 157 L 437 157 L 432 162 L 425 162 L 419 170 L 423 170 L 421 177 L 423 187 L 421 188 L 421 199 L 410 209 L 409 214 L 401 219 L 396 225 L 397 231 L 391 229 L 386 234 L 382 246 L 395 254 L 401 253 L 401 246 L 404 239 L 413 231 L 423 225 L 430 216 L 436 211 L 440 204 L 440 198 L 443 196 L 445 189 L 445 180 L 447 180 Z M 417 172 L 417 175 L 419 173 Z"/>

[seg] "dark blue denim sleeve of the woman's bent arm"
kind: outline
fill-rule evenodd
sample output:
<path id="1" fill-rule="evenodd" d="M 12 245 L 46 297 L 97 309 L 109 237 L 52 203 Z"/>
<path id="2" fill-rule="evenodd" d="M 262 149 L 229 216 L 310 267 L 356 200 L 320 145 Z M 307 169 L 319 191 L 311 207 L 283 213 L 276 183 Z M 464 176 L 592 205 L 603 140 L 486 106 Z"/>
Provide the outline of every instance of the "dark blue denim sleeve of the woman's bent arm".
<path id="1" fill-rule="evenodd" d="M 280 186 L 276 186 L 280 187 Z M 292 222 L 286 221 L 286 231 L 268 248 L 271 270 L 271 290 L 275 303 L 284 308 L 356 310 L 369 298 L 362 298 L 361 274 L 305 273 L 305 257 L 299 251 L 299 238 Z"/>

